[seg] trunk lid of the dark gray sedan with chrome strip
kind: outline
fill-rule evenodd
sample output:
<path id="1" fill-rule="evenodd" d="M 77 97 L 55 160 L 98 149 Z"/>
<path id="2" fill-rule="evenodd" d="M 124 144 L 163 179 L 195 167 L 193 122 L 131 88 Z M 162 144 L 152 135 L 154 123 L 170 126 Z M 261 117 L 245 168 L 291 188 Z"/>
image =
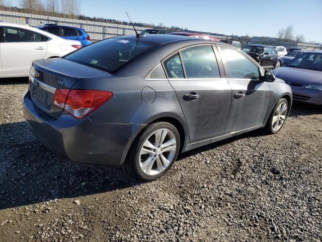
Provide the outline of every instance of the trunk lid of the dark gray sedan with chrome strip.
<path id="1" fill-rule="evenodd" d="M 63 58 L 34 61 L 29 75 L 32 102 L 47 115 L 58 118 L 63 109 L 53 105 L 58 88 L 71 89 L 81 78 L 108 78 L 112 75 Z"/>

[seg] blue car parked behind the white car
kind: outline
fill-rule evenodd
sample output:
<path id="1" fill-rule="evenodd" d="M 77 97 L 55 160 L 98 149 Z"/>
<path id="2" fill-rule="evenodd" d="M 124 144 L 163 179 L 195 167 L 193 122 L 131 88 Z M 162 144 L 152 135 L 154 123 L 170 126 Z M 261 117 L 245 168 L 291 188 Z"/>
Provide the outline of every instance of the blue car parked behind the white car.
<path id="1" fill-rule="evenodd" d="M 92 43 L 88 33 L 86 33 L 85 30 L 81 28 L 63 26 L 63 25 L 57 25 L 57 24 L 44 24 L 44 25 L 36 26 L 35 28 L 60 36 L 61 38 L 64 38 L 64 39 L 80 41 L 83 46 L 87 46 Z"/>

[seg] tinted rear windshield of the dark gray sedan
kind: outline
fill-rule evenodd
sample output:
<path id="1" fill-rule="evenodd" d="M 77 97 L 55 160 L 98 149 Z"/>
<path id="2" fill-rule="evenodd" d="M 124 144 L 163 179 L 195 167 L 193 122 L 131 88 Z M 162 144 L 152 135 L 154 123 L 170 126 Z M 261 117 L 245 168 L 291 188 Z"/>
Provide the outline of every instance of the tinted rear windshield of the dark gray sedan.
<path id="1" fill-rule="evenodd" d="M 125 38 L 110 38 L 66 55 L 68 61 L 115 72 L 158 44 Z"/>

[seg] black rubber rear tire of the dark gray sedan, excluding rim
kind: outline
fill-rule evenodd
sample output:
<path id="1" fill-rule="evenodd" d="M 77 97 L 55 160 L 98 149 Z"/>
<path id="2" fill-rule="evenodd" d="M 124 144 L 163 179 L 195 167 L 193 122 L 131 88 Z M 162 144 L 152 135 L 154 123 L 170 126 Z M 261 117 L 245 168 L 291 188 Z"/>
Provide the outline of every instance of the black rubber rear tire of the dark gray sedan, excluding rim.
<path id="1" fill-rule="evenodd" d="M 155 175 L 148 175 L 144 173 L 140 167 L 140 151 L 143 146 L 143 143 L 148 139 L 148 137 L 150 137 L 151 134 L 153 134 L 155 131 L 159 129 L 167 129 L 172 132 L 172 134 L 176 138 L 176 151 L 171 163 L 165 168 L 165 170 Z M 125 166 L 127 170 L 130 172 L 130 174 L 138 179 L 141 179 L 144 181 L 155 180 L 160 176 L 164 175 L 171 168 L 171 166 L 174 164 L 175 160 L 177 159 L 179 150 L 180 150 L 180 135 L 175 126 L 166 122 L 157 122 L 154 124 L 150 124 L 147 127 L 145 127 L 143 132 L 139 134 L 138 137 L 136 137 L 136 139 L 134 140 L 128 152 L 128 155 L 125 161 Z"/>

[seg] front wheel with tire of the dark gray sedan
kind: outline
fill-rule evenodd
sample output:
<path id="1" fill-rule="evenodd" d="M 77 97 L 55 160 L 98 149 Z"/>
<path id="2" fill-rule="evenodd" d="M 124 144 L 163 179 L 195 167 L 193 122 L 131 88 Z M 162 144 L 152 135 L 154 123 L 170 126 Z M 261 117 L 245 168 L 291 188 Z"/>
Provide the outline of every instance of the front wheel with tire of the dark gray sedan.
<path id="1" fill-rule="evenodd" d="M 276 106 L 274 107 L 267 123 L 266 123 L 266 130 L 270 134 L 278 133 L 282 126 L 285 123 L 285 119 L 288 113 L 288 101 L 285 98 L 281 98 Z"/>

